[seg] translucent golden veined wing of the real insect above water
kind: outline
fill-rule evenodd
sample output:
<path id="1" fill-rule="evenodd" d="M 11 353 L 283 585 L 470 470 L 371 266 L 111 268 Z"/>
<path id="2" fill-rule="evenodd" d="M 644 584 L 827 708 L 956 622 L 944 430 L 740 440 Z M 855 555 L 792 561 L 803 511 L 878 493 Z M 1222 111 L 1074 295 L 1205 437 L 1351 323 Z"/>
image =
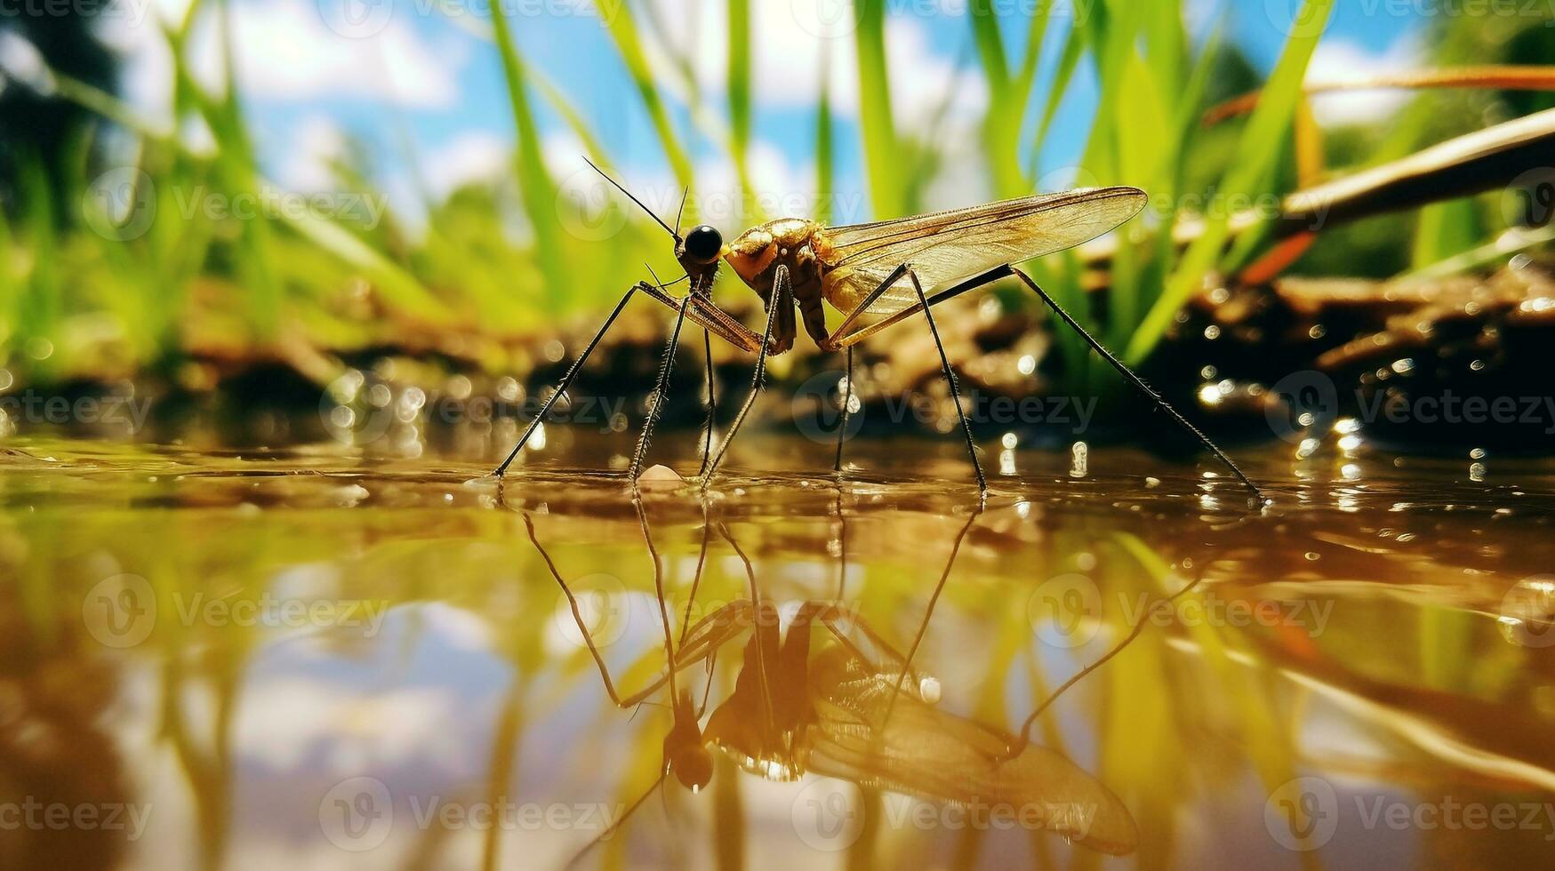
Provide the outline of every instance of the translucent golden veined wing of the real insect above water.
<path id="1" fill-rule="evenodd" d="M 897 221 L 827 227 L 830 252 L 821 278 L 826 302 L 847 313 L 891 272 L 911 263 L 933 294 L 995 266 L 1015 264 L 1090 241 L 1144 208 L 1138 188 L 1085 188 L 1006 199 L 972 208 L 917 215 Z M 893 314 L 917 302 L 903 278 L 880 296 L 872 314 Z"/>

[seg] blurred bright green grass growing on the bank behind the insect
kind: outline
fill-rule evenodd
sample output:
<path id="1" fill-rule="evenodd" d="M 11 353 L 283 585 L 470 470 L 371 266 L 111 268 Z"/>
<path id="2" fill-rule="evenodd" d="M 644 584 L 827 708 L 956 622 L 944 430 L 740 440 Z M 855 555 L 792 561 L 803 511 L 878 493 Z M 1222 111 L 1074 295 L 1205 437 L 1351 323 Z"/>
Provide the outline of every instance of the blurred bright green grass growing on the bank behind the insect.
<path id="1" fill-rule="evenodd" d="M 997 5 L 975 0 L 964 19 L 936 20 L 935 26 L 966 28 L 967 53 L 975 58 L 970 68 L 987 86 L 975 135 L 977 173 L 989 194 L 1011 198 L 1070 184 L 1132 184 L 1152 194 L 1146 216 L 1123 229 L 1129 244 L 1113 257 L 1104 302 L 1082 285 L 1073 254 L 1029 264 L 1061 303 L 1130 362 L 1152 355 L 1208 275 L 1247 263 L 1264 238 L 1258 227 L 1233 238 L 1225 208 L 1200 213 L 1183 202 L 1278 196 L 1336 166 L 1396 157 L 1479 126 L 1485 106 L 1497 106 L 1496 95 L 1418 98 L 1386 128 L 1342 129 L 1325 138 L 1300 84 L 1323 31 L 1319 25 L 1333 6 L 1333 0 L 1306 0 L 1295 17 L 1305 23 L 1294 28 L 1267 81 L 1225 44 L 1224 20 L 1207 39 L 1194 37 L 1179 2 L 1099 0 L 1088 14 L 1075 16 L 1067 5 L 1043 0 L 1028 17 L 1001 17 Z M 754 5 L 728 0 L 725 11 L 723 106 L 708 106 L 709 95 L 695 78 L 692 53 L 709 47 L 670 39 L 653 20 L 652 6 L 624 5 L 605 23 L 676 184 L 695 190 L 692 156 L 700 163 L 709 149 L 723 151 L 748 205 L 740 212 L 750 221 L 774 218 L 754 202 L 750 171 L 759 121 L 753 70 L 762 48 Z M 961 134 L 947 118 L 963 95 L 950 93 L 927 129 L 899 129 L 893 92 L 910 81 L 900 64 L 916 59 L 888 56 L 888 3 L 857 0 L 854 17 L 849 40 L 823 40 L 813 216 L 835 216 L 837 168 L 851 163 L 838 159 L 838 149 L 849 148 L 861 152 L 874 218 L 964 204 L 930 201 L 928 185 L 945 168 L 952 138 Z M 238 219 L 188 213 L 191 193 L 232 199 L 275 188 L 260 171 L 243 93 L 201 84 L 188 58 L 190 34 L 201 22 L 225 33 L 224 2 L 196 0 L 163 26 L 174 59 L 168 129 L 148 123 L 110 93 L 56 76 L 61 98 L 103 120 L 78 138 L 79 154 L 68 160 L 76 168 L 68 176 L 73 180 L 25 168 L 0 215 L 0 364 L 22 383 L 47 383 L 173 373 L 185 359 L 215 353 L 280 356 L 317 378 L 328 375 L 328 364 L 320 362 L 327 358 L 398 344 L 449 352 L 505 373 L 533 366 L 527 350 L 533 341 L 574 324 L 586 328 L 644 260 L 664 260 L 662 232 L 625 204 L 613 205 L 624 208 L 628 221 L 616 236 L 580 238 L 586 233 L 568 227 L 563 212 L 588 204 L 574 204 L 577 191 L 547 163 L 543 112 L 560 118 L 602 166 L 613 162 L 592 124 L 613 118 L 591 118 L 544 70 L 529 64 L 502 14 L 453 20 L 488 39 L 501 61 L 515 131 L 513 176 L 466 184 L 437 202 L 418 182 L 420 196 L 428 199 L 428 226 L 418 232 L 393 208 L 379 226 L 350 215 Z M 1446 61 L 1483 59 L 1490 47 L 1476 36 L 1480 23 L 1440 25 L 1432 34 L 1434 51 Z M 1496 39 L 1496 45 L 1511 47 L 1507 51 L 1522 45 L 1516 33 L 1497 31 Z M 229 82 L 236 81 L 230 40 L 227 33 Z M 832 53 L 849 48 L 857 56 L 858 117 L 857 123 L 840 123 L 824 70 Z M 650 62 L 656 58 L 667 58 L 669 65 Z M 1264 89 L 1250 118 L 1216 128 L 1199 123 L 1208 104 L 1242 86 Z M 1082 152 L 1070 166 L 1047 165 L 1053 126 L 1087 89 L 1095 93 L 1095 110 Z M 683 96 L 689 101 L 684 107 Z M 1463 110 L 1443 118 L 1432 100 L 1460 101 Z M 191 128 L 208 132 L 211 145 L 191 146 Z M 126 137 L 134 142 L 128 157 L 121 148 Z M 114 148 L 103 146 L 106 142 Z M 369 166 L 370 156 L 334 166 L 337 190 L 384 196 Z M 100 191 L 89 179 L 118 168 L 140 173 L 134 177 L 149 185 L 146 196 L 156 207 L 157 219 L 134 238 L 117 238 L 112 210 L 92 204 Z M 135 190 L 138 196 L 142 188 Z M 1431 207 L 1418 221 L 1398 218 L 1340 230 L 1333 233 L 1336 243 L 1325 238 L 1302 268 L 1340 271 L 1375 261 L 1393 263 L 1395 272 L 1431 274 L 1449 264 L 1493 263 L 1501 250 L 1490 247 L 1501 230 L 1493 215 L 1485 201 L 1460 201 Z M 695 196 L 687 218 L 697 218 Z M 1183 221 L 1202 221 L 1205 229 L 1185 250 L 1169 233 Z M 732 235 L 742 227 L 722 229 Z M 1368 246 L 1386 250 L 1358 257 Z M 739 302 L 734 292 L 729 299 Z M 998 299 L 1006 306 L 1034 308 L 1033 300 L 1011 291 L 1000 291 Z M 1054 342 L 1062 362 L 1054 390 L 1115 386 L 1110 370 L 1096 366 L 1078 338 L 1059 330 Z"/>

